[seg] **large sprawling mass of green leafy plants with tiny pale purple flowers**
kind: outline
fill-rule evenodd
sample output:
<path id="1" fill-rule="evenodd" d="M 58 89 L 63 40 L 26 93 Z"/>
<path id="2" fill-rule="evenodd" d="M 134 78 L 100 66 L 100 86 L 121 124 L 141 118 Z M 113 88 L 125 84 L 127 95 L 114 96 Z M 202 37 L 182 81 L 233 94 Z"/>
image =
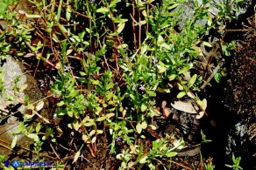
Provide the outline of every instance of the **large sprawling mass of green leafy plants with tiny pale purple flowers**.
<path id="1" fill-rule="evenodd" d="M 116 153 L 117 141 L 135 147 L 133 152 L 128 149 L 117 154 L 123 168 L 146 164 L 154 169 L 151 160 L 174 157 L 184 146 L 182 139 L 172 144 L 167 139 L 156 139 L 146 154 L 136 143 L 145 138 L 146 129 L 156 129 L 151 120 L 160 116 L 156 109 L 158 93 L 178 91 L 177 99 L 194 99 L 198 119 L 203 117 L 207 101 L 196 95 L 203 84 L 203 75 L 195 65 L 199 46 L 211 47 L 203 37 L 229 19 L 227 10 L 231 9 L 220 4 L 223 10 L 213 20 L 209 1 L 195 1 L 194 15 L 178 31 L 179 7 L 185 0 L 30 2 L 37 7 L 35 14 L 11 11 L 8 6 L 13 1 L 0 1 L 4 4 L 1 17 L 8 25 L 0 35 L 0 61 L 11 53 L 36 62 L 31 66 L 34 71 L 40 66 L 54 73 L 49 86 L 52 94 L 46 98 L 57 102 L 51 118 L 42 118 L 39 111 L 43 99 L 36 103 L 26 99 L 23 105 L 32 110 L 32 115 L 25 115 L 17 134 L 34 139 L 34 151 L 39 155 L 45 141 L 54 145 L 57 136 L 64 136 L 60 126 L 49 120 L 59 119 L 68 132 L 77 135 L 73 163 L 80 158 L 84 144 L 95 156 L 96 143 L 101 139 L 110 139 L 110 153 Z M 124 17 L 122 11 L 127 9 L 131 15 Z M 200 20 L 207 20 L 207 24 L 197 24 Z M 1 75 L 2 71 L 3 92 Z M 40 121 L 28 127 L 26 122 L 34 116 Z M 16 142 L 17 135 L 11 147 Z"/>

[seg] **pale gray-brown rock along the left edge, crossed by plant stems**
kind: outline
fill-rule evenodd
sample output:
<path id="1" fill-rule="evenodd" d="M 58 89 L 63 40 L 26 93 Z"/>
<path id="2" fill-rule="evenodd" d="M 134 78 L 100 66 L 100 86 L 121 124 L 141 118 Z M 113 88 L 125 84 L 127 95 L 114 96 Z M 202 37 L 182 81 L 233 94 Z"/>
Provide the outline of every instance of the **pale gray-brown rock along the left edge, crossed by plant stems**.
<path id="1" fill-rule="evenodd" d="M 7 143 L 11 143 L 13 138 L 13 133 L 16 133 L 19 127 L 19 120 L 16 116 L 14 116 L 14 112 L 21 112 L 30 113 L 31 111 L 26 110 L 24 105 L 18 106 L 18 98 L 25 99 L 28 97 L 30 102 L 38 101 L 39 99 L 43 98 L 42 92 L 40 92 L 36 81 L 32 81 L 32 75 L 28 72 L 25 72 L 24 65 L 21 64 L 18 60 L 12 58 L 11 56 L 6 56 L 6 62 L 4 63 L 3 67 L 1 68 L 4 71 L 4 94 L 0 98 L 0 106 L 2 109 L 4 108 L 4 112 L 0 111 L 0 154 L 5 155 L 5 160 L 8 159 L 8 155 L 13 153 L 10 149 L 5 148 L 4 146 L 11 147 Z M 19 78 L 18 78 L 19 77 Z M 19 79 L 17 85 L 20 87 L 22 85 L 28 85 L 25 91 L 23 92 L 14 92 L 14 80 Z M 15 96 L 14 97 L 14 93 Z M 15 110 L 6 109 L 6 101 L 12 98 L 13 102 L 12 105 L 17 105 L 18 108 Z M 6 112 L 9 111 L 9 112 Z M 7 121 L 5 120 L 7 119 Z M 4 125 L 3 125 L 4 124 Z M 32 139 L 27 138 L 25 135 L 20 134 L 18 135 L 17 145 L 29 148 L 29 146 L 33 143 Z M 4 146 L 3 146 L 4 145 Z M 22 153 L 23 150 L 21 149 L 18 153 Z"/>

